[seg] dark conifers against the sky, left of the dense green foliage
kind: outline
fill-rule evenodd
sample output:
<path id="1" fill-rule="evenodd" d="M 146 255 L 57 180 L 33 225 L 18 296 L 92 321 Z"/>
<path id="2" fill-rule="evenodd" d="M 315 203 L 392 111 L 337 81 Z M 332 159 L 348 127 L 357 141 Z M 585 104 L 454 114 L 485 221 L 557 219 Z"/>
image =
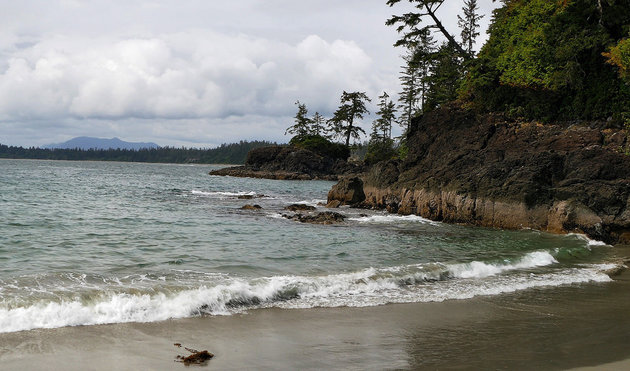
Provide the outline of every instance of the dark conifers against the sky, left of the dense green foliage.
<path id="1" fill-rule="evenodd" d="M 393 6 L 399 0 L 390 0 Z M 473 46 L 479 36 L 479 21 L 476 0 L 465 0 L 462 8 L 463 16 L 458 16 L 461 29 L 461 43 L 456 41 L 437 18 L 435 12 L 443 1 L 415 1 L 420 13 L 409 13 L 393 16 L 387 21 L 389 25 L 402 23 L 398 31 L 404 36 L 395 46 L 404 46 L 405 64 L 401 67 L 400 82 L 402 89 L 398 93 L 397 102 L 387 92 L 378 97 L 376 120 L 372 123 L 365 160 L 377 162 L 396 156 L 404 156 L 406 152 L 405 137 L 410 130 L 412 120 L 423 112 L 435 109 L 445 102 L 456 98 L 457 87 L 462 79 L 465 61 L 473 57 Z M 419 27 L 424 16 L 430 16 L 434 23 Z M 439 29 L 447 41 L 439 47 L 433 37 L 433 29 Z M 404 32 L 407 30 L 407 32 Z M 365 92 L 346 92 L 340 98 L 340 105 L 329 119 L 319 112 L 308 117 L 308 109 L 304 103 L 296 102 L 298 111 L 295 121 L 285 134 L 293 134 L 292 144 L 303 143 L 305 138 L 321 137 L 326 140 L 339 139 L 350 146 L 350 140 L 361 139 L 366 134 L 357 120 L 370 114 L 366 104 L 371 99 Z M 404 133 L 392 138 L 392 126 L 400 125 Z"/>

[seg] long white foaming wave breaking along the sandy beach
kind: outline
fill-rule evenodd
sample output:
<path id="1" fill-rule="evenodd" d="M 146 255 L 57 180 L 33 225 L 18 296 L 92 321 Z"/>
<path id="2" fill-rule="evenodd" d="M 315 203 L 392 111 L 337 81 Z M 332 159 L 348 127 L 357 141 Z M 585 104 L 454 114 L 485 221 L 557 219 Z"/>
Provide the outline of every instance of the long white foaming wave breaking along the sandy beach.
<path id="1" fill-rule="evenodd" d="M 168 291 L 147 287 L 120 292 L 41 300 L 23 306 L 0 301 L 0 332 L 120 322 L 153 322 L 202 314 L 229 315 L 252 308 L 374 306 L 435 302 L 498 295 L 533 287 L 607 282 L 609 265 L 551 268 L 547 252 L 526 254 L 513 262 L 491 264 L 419 264 L 367 268 L 327 276 L 223 277 L 218 282 L 182 285 Z M 508 274 L 509 273 L 509 274 Z M 187 283 L 191 283 L 188 281 Z"/>

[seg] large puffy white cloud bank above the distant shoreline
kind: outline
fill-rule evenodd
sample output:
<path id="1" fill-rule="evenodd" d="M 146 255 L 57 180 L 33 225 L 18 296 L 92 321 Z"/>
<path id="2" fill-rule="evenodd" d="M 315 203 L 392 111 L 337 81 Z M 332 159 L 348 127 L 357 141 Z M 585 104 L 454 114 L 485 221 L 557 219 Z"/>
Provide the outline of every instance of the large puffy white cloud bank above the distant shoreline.
<path id="1" fill-rule="evenodd" d="M 206 31 L 67 43 L 43 41 L 8 60 L 3 120 L 281 115 L 296 99 L 332 110 L 328 98 L 343 89 L 379 89 L 356 43 L 316 35 L 297 45 Z"/>

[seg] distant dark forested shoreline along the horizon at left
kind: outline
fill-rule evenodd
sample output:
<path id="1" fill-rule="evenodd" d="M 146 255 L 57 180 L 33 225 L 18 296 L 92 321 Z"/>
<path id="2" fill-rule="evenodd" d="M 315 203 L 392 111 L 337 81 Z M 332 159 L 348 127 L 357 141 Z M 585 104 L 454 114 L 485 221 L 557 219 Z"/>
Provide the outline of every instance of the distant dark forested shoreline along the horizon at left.
<path id="1" fill-rule="evenodd" d="M 159 147 L 131 149 L 44 149 L 15 147 L 0 144 L 0 158 L 71 160 L 71 161 L 121 161 L 174 164 L 243 164 L 247 153 L 258 147 L 277 145 L 268 141 L 240 141 L 222 144 L 216 148 Z"/>

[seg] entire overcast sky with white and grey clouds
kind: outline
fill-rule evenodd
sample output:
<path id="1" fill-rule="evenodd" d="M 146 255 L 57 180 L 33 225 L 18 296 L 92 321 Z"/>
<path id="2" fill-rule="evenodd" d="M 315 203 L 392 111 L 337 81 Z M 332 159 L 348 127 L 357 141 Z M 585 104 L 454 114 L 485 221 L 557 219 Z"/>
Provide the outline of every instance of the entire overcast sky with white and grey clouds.
<path id="1" fill-rule="evenodd" d="M 384 22 L 408 8 L 386 0 L 0 3 L 2 144 L 286 142 L 298 99 L 330 116 L 343 90 L 366 92 L 371 111 L 399 91 L 403 50 Z M 441 9 L 454 34 L 460 8 Z"/>

